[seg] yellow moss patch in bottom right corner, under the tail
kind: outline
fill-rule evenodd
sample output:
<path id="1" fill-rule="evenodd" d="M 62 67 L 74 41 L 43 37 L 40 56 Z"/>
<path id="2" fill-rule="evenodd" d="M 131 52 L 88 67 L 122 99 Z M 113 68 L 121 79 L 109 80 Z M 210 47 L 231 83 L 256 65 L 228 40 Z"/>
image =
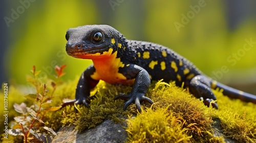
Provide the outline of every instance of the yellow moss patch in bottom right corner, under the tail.
<path id="1" fill-rule="evenodd" d="M 238 142 L 256 142 L 256 105 L 231 100 L 215 91 L 220 109 L 213 117 L 221 120 L 223 132 Z"/>

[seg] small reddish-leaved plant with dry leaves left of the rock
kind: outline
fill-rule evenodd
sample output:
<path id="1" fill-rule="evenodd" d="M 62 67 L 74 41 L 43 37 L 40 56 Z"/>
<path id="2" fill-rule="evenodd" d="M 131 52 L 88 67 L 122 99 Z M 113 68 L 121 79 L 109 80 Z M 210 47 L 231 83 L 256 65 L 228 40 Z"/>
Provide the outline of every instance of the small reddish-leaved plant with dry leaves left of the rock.
<path id="1" fill-rule="evenodd" d="M 56 111 L 61 108 L 61 106 L 49 107 L 49 104 L 52 102 L 51 98 L 53 97 L 54 91 L 57 87 L 58 79 L 65 75 L 65 73 L 63 73 L 63 68 L 65 67 L 66 65 L 62 65 L 60 67 L 57 65 L 55 66 L 57 76 L 55 76 L 56 80 L 51 82 L 53 91 L 51 96 L 48 97 L 47 93 L 49 89 L 47 89 L 46 84 L 43 84 L 41 88 L 41 83 L 37 78 L 37 75 L 40 73 L 40 71 L 36 71 L 35 66 L 33 66 L 31 70 L 33 77 L 29 78 L 28 81 L 34 85 L 36 93 L 24 96 L 29 102 L 32 102 L 33 104 L 30 107 L 27 107 L 27 104 L 25 103 L 20 105 L 13 105 L 15 111 L 21 113 L 22 115 L 14 117 L 14 120 L 17 124 L 9 130 L 9 134 L 14 136 L 24 136 L 24 142 L 52 141 L 53 137 L 57 134 L 53 131 L 53 129 L 46 127 L 43 120 L 46 112 Z"/>

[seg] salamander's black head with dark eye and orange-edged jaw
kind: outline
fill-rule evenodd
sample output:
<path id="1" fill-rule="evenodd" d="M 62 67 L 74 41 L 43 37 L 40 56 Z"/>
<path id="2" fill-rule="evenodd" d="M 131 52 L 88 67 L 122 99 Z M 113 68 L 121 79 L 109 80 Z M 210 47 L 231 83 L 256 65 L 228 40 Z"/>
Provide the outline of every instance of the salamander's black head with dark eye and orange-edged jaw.
<path id="1" fill-rule="evenodd" d="M 66 52 L 81 59 L 109 57 L 122 45 L 123 37 L 106 25 L 88 25 L 71 28 L 66 34 Z"/>

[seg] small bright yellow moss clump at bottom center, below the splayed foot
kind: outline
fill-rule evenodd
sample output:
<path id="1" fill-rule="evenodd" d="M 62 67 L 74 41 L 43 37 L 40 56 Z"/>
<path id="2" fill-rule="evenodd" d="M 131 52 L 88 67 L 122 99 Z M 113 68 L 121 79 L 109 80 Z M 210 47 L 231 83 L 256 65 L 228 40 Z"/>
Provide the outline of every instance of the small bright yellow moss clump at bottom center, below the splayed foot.
<path id="1" fill-rule="evenodd" d="M 130 142 L 188 142 L 182 121 L 167 108 L 142 110 L 137 116 L 129 116 L 127 129 Z"/>

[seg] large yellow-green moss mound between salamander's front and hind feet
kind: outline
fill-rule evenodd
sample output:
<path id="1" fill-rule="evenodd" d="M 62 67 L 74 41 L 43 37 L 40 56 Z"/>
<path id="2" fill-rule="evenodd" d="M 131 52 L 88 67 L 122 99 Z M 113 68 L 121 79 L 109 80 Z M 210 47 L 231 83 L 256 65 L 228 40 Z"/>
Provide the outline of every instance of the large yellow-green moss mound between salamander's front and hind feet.
<path id="1" fill-rule="evenodd" d="M 215 110 L 205 107 L 185 89 L 158 82 L 149 93 L 157 106 L 129 118 L 127 131 L 131 142 L 223 142 L 214 137 L 211 129 L 211 114 Z"/>

